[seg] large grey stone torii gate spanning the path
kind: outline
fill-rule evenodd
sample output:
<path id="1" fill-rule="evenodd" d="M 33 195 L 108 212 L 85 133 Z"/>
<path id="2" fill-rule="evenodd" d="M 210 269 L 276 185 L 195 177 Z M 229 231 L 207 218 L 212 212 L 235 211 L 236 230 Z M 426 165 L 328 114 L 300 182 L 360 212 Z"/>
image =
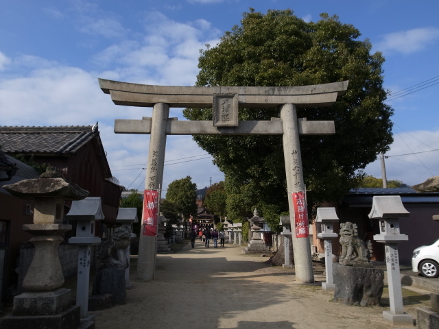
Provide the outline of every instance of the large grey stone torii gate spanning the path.
<path id="1" fill-rule="evenodd" d="M 183 87 L 150 86 L 99 79 L 99 86 L 116 105 L 153 107 L 152 118 L 115 120 L 115 133 L 151 134 L 145 189 L 158 189 L 163 181 L 166 135 L 283 135 L 288 193 L 305 191 L 299 135 L 335 134 L 333 121 L 298 119 L 296 108 L 331 106 L 348 81 L 294 87 Z M 178 121 L 169 108 L 213 108 L 213 121 Z M 271 121 L 239 121 L 239 108 L 280 108 Z M 288 197 L 290 218 L 294 204 Z M 142 220 L 142 226 L 145 218 Z M 293 226 L 292 226 L 293 227 Z M 309 238 L 292 234 L 296 279 L 314 282 Z M 137 280 L 154 279 L 156 236 L 141 235 Z"/>

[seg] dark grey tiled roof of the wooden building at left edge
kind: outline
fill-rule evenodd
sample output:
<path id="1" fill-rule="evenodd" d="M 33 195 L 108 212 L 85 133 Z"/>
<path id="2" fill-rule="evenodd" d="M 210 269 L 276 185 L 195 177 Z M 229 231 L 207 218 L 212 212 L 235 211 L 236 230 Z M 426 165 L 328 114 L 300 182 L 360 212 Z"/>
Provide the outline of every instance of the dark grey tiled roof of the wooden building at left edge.
<path id="1" fill-rule="evenodd" d="M 0 145 L 7 154 L 75 154 L 98 134 L 97 129 L 92 128 L 91 125 L 0 127 Z"/>

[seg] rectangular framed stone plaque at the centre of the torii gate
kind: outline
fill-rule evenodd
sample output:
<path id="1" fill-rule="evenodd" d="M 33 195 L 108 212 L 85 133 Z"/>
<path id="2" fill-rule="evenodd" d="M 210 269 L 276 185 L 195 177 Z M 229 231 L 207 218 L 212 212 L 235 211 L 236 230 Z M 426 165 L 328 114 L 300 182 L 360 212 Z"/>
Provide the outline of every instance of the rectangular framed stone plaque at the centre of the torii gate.
<path id="1" fill-rule="evenodd" d="M 238 94 L 213 94 L 213 125 L 238 126 Z"/>

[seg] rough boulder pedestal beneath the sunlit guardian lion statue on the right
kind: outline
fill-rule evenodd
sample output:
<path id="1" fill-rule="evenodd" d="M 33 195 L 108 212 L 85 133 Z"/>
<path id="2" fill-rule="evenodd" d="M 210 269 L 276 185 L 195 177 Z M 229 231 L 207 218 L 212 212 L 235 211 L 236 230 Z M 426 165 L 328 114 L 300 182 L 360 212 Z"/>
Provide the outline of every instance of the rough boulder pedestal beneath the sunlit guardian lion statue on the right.
<path id="1" fill-rule="evenodd" d="M 384 271 L 333 264 L 334 302 L 346 305 L 379 305 L 384 287 Z"/>

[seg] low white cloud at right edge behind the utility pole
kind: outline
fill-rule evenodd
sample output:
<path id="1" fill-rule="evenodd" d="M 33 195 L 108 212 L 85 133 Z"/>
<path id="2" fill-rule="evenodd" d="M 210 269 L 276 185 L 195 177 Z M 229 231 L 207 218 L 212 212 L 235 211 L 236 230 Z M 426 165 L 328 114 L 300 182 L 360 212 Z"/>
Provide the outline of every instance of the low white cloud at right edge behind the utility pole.
<path id="1" fill-rule="evenodd" d="M 410 186 L 424 182 L 427 178 L 439 175 L 439 130 L 434 132 L 419 130 L 401 132 L 394 135 L 394 143 L 385 156 L 385 169 L 388 180 L 401 180 Z M 424 152 L 412 154 L 416 152 Z M 411 154 L 407 156 L 399 156 Z M 365 169 L 366 173 L 381 178 L 381 162 L 376 160 Z"/>

